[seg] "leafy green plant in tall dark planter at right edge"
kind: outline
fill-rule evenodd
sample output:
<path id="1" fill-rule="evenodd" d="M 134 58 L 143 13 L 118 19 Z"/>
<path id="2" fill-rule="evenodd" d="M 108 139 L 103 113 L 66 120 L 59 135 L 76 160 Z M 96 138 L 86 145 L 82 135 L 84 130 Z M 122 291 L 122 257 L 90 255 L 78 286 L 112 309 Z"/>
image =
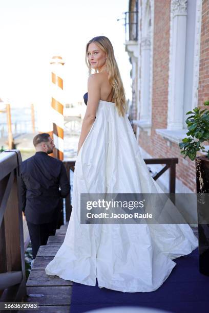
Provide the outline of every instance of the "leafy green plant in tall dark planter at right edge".
<path id="1" fill-rule="evenodd" d="M 205 106 L 209 101 L 204 102 Z M 195 107 L 186 115 L 188 137 L 179 143 L 184 159 L 189 157 L 196 161 L 197 213 L 198 213 L 198 240 L 199 240 L 199 270 L 209 276 L 209 150 L 206 151 L 203 142 L 209 143 L 209 110 Z M 197 152 L 207 154 L 197 157 Z"/>

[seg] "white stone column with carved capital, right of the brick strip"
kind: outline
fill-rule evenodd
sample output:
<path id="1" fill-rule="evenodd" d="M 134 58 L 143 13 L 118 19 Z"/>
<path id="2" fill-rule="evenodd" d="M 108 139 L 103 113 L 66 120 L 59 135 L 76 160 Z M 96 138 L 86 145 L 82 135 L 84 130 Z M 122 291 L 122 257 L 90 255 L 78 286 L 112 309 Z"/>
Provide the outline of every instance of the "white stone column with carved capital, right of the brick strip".
<path id="1" fill-rule="evenodd" d="M 183 128 L 187 0 L 171 2 L 168 129 Z"/>

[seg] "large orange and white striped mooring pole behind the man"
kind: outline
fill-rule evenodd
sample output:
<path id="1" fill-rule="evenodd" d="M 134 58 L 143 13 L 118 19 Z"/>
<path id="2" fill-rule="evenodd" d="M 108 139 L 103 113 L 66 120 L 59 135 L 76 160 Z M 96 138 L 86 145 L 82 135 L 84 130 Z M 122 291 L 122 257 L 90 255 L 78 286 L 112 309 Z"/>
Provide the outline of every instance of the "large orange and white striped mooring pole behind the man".
<path id="1" fill-rule="evenodd" d="M 64 159 L 64 92 L 63 92 L 63 65 L 65 62 L 60 56 L 54 56 L 50 62 L 52 69 L 52 123 L 53 140 L 55 144 L 54 157 Z"/>

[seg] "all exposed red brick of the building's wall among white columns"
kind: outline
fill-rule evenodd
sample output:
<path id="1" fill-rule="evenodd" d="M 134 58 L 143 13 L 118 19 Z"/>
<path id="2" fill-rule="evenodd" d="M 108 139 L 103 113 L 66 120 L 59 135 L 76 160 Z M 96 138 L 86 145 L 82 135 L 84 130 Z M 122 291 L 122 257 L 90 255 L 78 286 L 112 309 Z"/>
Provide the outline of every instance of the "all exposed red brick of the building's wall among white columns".
<path id="1" fill-rule="evenodd" d="M 155 1 L 154 8 L 154 47 L 153 47 L 153 100 L 151 136 L 140 130 L 139 145 L 153 158 L 178 158 L 176 177 L 190 190 L 196 191 L 195 162 L 184 160 L 178 144 L 164 140 L 155 132 L 156 128 L 166 128 L 168 118 L 169 81 L 169 38 L 170 1 Z M 163 12 L 163 15 L 162 15 Z M 209 100 L 209 1 L 203 0 L 200 75 L 198 103 Z"/>

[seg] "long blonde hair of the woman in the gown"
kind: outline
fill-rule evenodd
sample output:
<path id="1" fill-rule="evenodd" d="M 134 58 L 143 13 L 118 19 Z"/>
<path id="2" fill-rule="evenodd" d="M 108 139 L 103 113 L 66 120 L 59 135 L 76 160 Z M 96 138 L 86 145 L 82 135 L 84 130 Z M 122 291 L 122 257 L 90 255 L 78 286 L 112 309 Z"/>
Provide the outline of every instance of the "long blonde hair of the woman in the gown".
<path id="1" fill-rule="evenodd" d="M 118 69 L 117 62 L 115 60 L 115 55 L 113 51 L 113 46 L 110 40 L 105 36 L 97 36 L 92 38 L 86 46 L 86 63 L 89 68 L 89 75 L 91 75 L 92 68 L 91 63 L 88 60 L 88 49 L 89 44 L 94 42 L 103 52 L 107 53 L 107 70 L 108 70 L 108 79 L 110 82 L 110 85 L 113 88 L 113 99 L 115 101 L 115 105 L 118 110 L 119 116 L 124 116 L 127 111 L 127 102 L 126 102 L 126 96 L 124 87 L 122 84 L 122 80 L 120 77 L 120 72 Z M 97 70 L 95 70 L 95 73 L 97 73 Z"/>

